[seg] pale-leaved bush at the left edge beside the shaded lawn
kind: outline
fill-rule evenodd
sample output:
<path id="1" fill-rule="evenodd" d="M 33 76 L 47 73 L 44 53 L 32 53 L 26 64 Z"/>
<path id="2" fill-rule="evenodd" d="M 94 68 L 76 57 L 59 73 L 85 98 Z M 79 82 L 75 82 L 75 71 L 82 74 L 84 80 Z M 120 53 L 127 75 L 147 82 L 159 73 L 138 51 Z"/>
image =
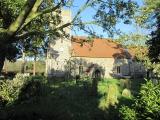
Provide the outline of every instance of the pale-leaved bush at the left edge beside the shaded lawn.
<path id="1" fill-rule="evenodd" d="M 0 106 L 6 106 L 15 102 L 28 101 L 41 93 L 42 83 L 45 77 L 25 77 L 17 74 L 13 80 L 5 80 L 0 84 Z"/>

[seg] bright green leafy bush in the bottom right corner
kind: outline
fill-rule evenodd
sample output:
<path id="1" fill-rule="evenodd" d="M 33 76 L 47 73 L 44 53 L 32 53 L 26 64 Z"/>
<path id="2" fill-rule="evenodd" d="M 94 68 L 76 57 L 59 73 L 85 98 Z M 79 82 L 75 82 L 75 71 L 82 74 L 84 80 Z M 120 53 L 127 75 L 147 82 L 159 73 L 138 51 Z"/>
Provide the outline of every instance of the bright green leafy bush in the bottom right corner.
<path id="1" fill-rule="evenodd" d="M 154 85 L 151 81 L 143 85 L 140 97 L 136 100 L 135 107 L 138 110 L 138 118 L 158 119 L 160 117 L 160 85 Z"/>

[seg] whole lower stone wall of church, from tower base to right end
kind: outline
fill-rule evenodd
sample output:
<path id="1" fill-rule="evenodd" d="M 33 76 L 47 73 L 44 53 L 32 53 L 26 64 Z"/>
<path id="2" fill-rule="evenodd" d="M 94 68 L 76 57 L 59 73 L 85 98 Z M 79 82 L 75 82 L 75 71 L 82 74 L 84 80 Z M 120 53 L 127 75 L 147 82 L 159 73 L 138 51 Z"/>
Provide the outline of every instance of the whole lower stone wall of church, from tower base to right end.
<path id="1" fill-rule="evenodd" d="M 55 60 L 50 59 L 49 63 L 51 68 L 49 74 L 51 76 L 63 77 L 65 73 L 68 73 L 71 76 L 80 75 L 80 67 L 82 67 L 84 74 L 92 77 L 96 70 L 99 70 L 101 76 L 105 78 L 123 76 L 140 77 L 145 74 L 145 69 L 142 64 L 132 62 L 131 59 L 70 57 L 67 61 L 65 59 L 66 55 L 67 54 L 65 53 L 63 54 L 64 58 L 61 61 L 58 61 L 59 59 L 57 59 L 57 62 L 55 62 Z M 57 66 L 57 68 L 55 68 L 55 66 Z M 118 67 L 120 69 L 119 71 Z"/>

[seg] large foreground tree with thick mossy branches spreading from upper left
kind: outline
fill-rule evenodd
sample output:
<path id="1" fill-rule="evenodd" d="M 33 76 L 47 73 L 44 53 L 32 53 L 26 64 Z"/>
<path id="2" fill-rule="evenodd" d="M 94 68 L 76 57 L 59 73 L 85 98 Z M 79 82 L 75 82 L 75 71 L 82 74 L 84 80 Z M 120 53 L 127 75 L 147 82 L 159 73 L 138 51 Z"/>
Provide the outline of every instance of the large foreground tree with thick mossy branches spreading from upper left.
<path id="1" fill-rule="evenodd" d="M 61 10 L 71 7 L 74 0 L 1 0 L 0 1 L 0 72 L 4 60 L 16 60 L 22 56 L 22 50 L 32 46 L 34 37 L 45 38 L 64 36 L 64 28 L 78 26 L 91 35 L 86 24 L 96 24 L 110 34 L 120 20 L 125 23 L 133 17 L 136 4 L 123 0 L 86 0 L 69 23 L 61 23 Z M 93 21 L 83 22 L 80 14 L 91 7 L 97 12 Z M 52 24 L 52 27 L 50 26 Z M 44 44 L 48 43 L 43 39 Z M 33 48 L 33 47 L 32 47 Z M 33 48 L 34 49 L 34 48 Z"/>

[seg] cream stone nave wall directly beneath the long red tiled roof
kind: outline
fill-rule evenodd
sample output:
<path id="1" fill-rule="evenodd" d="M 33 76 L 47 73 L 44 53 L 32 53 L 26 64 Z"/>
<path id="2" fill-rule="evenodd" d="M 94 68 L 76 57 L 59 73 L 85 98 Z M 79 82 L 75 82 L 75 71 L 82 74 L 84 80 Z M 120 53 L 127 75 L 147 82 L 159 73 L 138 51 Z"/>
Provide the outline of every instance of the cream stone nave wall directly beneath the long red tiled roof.
<path id="1" fill-rule="evenodd" d="M 75 73 L 79 74 L 79 66 L 83 66 L 84 72 L 94 64 L 94 67 L 90 71 L 92 74 L 96 69 L 101 71 L 101 74 L 105 78 L 114 77 L 114 74 L 129 75 L 129 59 L 114 59 L 114 58 L 88 58 L 88 57 L 72 57 L 73 61 L 76 61 L 74 65 Z M 120 66 L 120 73 L 117 73 L 117 66 Z"/>

